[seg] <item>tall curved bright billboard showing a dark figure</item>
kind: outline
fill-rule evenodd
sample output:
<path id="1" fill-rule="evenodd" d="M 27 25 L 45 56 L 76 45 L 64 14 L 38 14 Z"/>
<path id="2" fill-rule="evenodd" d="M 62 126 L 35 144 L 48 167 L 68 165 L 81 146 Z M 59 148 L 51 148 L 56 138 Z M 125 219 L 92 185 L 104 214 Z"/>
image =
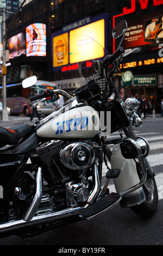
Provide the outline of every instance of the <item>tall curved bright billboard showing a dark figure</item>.
<path id="1" fill-rule="evenodd" d="M 46 25 L 34 23 L 26 27 L 26 56 L 46 56 Z"/>

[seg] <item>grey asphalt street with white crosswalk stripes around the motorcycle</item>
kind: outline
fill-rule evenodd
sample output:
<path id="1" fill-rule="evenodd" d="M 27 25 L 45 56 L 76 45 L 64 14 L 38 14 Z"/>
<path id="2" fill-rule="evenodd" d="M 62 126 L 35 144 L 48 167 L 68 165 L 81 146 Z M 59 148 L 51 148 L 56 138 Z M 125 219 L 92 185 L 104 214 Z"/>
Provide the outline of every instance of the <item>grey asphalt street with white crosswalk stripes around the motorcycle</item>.
<path id="1" fill-rule="evenodd" d="M 12 125 L 29 123 L 26 117 L 9 117 Z M 37 120 L 35 118 L 35 120 Z M 11 123 L 2 124 L 11 127 Z M 162 210 L 163 210 L 163 118 L 147 117 L 143 120 L 141 128 L 134 129 L 137 136 L 147 139 L 151 145 L 151 154 L 148 161 L 156 176 L 156 184 L 159 193 L 159 206 L 155 215 L 147 220 L 137 216 L 129 208 L 115 208 L 90 221 L 80 221 L 47 231 L 35 237 L 22 239 L 18 236 L 4 237 L 0 239 L 0 245 L 56 245 L 60 246 L 97 246 L 107 245 L 163 245 Z M 111 138 L 117 136 L 117 132 Z M 106 168 L 104 166 L 105 176 Z M 104 178 L 103 178 L 104 179 Z M 114 191 L 114 185 L 109 186 Z"/>

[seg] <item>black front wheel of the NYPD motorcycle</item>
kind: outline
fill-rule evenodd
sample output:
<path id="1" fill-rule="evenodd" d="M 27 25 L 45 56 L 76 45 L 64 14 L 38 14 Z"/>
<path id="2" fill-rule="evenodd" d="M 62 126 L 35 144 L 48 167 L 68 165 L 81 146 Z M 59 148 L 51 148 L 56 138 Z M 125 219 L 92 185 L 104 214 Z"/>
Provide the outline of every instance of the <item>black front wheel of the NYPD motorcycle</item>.
<path id="1" fill-rule="evenodd" d="M 135 214 L 147 218 L 151 217 L 158 208 L 158 189 L 154 176 L 147 176 L 147 180 L 142 188 L 146 195 L 146 201 L 130 208 Z"/>

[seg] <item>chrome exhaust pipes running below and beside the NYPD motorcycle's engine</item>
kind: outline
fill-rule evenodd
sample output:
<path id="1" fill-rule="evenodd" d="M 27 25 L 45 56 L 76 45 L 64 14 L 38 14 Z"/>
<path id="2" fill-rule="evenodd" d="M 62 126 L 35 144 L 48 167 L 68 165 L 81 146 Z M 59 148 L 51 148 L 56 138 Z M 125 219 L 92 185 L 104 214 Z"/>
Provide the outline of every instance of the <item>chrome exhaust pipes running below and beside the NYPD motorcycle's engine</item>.
<path id="1" fill-rule="evenodd" d="M 37 210 L 37 207 L 39 206 L 39 202 L 41 201 L 40 198 L 42 198 L 42 170 L 39 167 L 37 172 L 37 178 L 36 178 L 36 193 L 35 197 L 33 199 L 32 204 L 29 206 L 26 214 L 23 217 L 23 220 L 17 220 L 17 221 L 9 221 L 3 224 L 0 224 L 0 233 L 6 232 L 6 231 L 12 231 L 18 228 L 25 228 L 30 227 L 32 225 L 41 224 L 49 221 L 55 221 L 61 218 L 70 217 L 73 215 L 81 214 L 81 211 L 86 209 L 92 202 L 95 197 L 97 197 L 98 194 L 98 182 L 99 182 L 99 175 L 98 175 L 98 169 L 97 165 L 95 164 L 94 168 L 94 179 L 95 179 L 95 187 L 91 191 L 88 203 L 83 207 L 76 207 L 76 208 L 68 208 L 65 210 L 57 211 L 57 212 L 47 212 L 46 214 L 41 214 L 34 216 L 35 211 Z M 39 187 L 41 188 L 41 192 L 38 193 Z M 32 208 L 33 206 L 33 208 Z M 31 214 L 30 214 L 31 210 Z M 30 218 L 32 218 L 30 220 Z M 27 220 L 27 221 L 26 221 Z M 30 221 L 29 221 L 30 220 Z"/>

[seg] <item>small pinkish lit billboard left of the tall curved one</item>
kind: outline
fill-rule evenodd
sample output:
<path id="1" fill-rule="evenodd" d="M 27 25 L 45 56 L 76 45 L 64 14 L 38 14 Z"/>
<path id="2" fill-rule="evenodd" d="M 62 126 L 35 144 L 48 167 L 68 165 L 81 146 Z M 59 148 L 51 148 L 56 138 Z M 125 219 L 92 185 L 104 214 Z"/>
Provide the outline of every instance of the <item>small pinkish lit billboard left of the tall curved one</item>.
<path id="1" fill-rule="evenodd" d="M 9 59 L 26 54 L 26 39 L 24 33 L 19 33 L 7 40 L 9 44 Z"/>

